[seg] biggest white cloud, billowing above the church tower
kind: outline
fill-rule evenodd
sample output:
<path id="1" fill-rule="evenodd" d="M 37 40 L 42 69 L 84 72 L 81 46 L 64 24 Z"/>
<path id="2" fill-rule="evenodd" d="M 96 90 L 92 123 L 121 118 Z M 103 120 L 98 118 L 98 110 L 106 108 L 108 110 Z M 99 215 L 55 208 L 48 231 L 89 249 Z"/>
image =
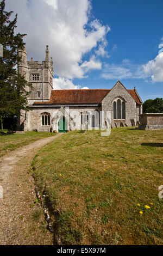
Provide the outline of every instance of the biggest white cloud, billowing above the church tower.
<path id="1" fill-rule="evenodd" d="M 44 60 L 45 47 L 49 45 L 55 75 L 71 80 L 83 78 L 87 71 L 100 68 L 99 61 L 90 59 L 83 63 L 82 58 L 103 44 L 110 30 L 97 19 L 90 22 L 90 2 L 7 0 L 6 9 L 18 13 L 17 32 L 27 34 L 24 40 L 29 58 Z"/>

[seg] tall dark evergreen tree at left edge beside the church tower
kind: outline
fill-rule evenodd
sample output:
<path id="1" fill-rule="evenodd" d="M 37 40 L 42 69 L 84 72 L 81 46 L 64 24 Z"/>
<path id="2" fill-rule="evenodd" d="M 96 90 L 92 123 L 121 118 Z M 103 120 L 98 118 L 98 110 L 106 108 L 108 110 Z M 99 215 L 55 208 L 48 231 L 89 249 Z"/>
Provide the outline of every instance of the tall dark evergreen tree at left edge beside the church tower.
<path id="1" fill-rule="evenodd" d="M 23 36 L 15 34 L 17 14 L 10 20 L 13 11 L 7 12 L 5 0 L 0 2 L 0 44 L 3 45 L 3 57 L 0 56 L 0 119 L 19 115 L 20 110 L 29 110 L 27 98 L 32 85 L 17 72 L 18 49 L 24 47 Z"/>

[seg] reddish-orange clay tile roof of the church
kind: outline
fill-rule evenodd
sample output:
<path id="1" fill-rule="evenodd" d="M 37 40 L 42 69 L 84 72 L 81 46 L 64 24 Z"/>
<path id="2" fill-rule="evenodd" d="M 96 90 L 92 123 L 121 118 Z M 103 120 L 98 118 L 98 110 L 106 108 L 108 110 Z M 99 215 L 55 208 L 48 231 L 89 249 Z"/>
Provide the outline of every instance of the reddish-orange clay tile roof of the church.
<path id="1" fill-rule="evenodd" d="M 137 104 L 141 104 L 135 90 L 127 90 Z M 91 104 L 100 103 L 110 92 L 110 89 L 78 89 L 78 90 L 52 90 L 47 102 L 34 102 L 40 104 Z"/>

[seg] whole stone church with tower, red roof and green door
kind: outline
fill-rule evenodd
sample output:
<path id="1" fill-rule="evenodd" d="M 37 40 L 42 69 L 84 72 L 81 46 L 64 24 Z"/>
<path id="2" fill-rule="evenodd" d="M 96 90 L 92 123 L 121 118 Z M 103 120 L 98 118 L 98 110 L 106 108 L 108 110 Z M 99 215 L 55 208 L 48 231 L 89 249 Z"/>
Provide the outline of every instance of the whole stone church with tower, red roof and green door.
<path id="1" fill-rule="evenodd" d="M 24 131 L 66 132 L 135 126 L 142 114 L 142 100 L 136 89 L 126 89 L 118 81 L 111 89 L 53 89 L 53 58 L 39 63 L 27 61 L 27 50 L 19 50 L 18 72 L 33 84 L 29 96 L 30 111 L 21 112 L 18 126 Z M 110 118 L 107 119 L 110 113 Z M 110 126 L 109 126 L 110 125 Z"/>

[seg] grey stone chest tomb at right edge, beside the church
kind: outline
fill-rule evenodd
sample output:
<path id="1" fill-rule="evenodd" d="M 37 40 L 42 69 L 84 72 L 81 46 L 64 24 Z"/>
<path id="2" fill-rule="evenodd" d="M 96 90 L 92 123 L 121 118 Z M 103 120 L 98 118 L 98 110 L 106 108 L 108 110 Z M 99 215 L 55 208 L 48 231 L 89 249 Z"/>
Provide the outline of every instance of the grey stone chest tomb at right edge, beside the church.
<path id="1" fill-rule="evenodd" d="M 163 129 L 163 113 L 140 114 L 139 130 Z"/>

